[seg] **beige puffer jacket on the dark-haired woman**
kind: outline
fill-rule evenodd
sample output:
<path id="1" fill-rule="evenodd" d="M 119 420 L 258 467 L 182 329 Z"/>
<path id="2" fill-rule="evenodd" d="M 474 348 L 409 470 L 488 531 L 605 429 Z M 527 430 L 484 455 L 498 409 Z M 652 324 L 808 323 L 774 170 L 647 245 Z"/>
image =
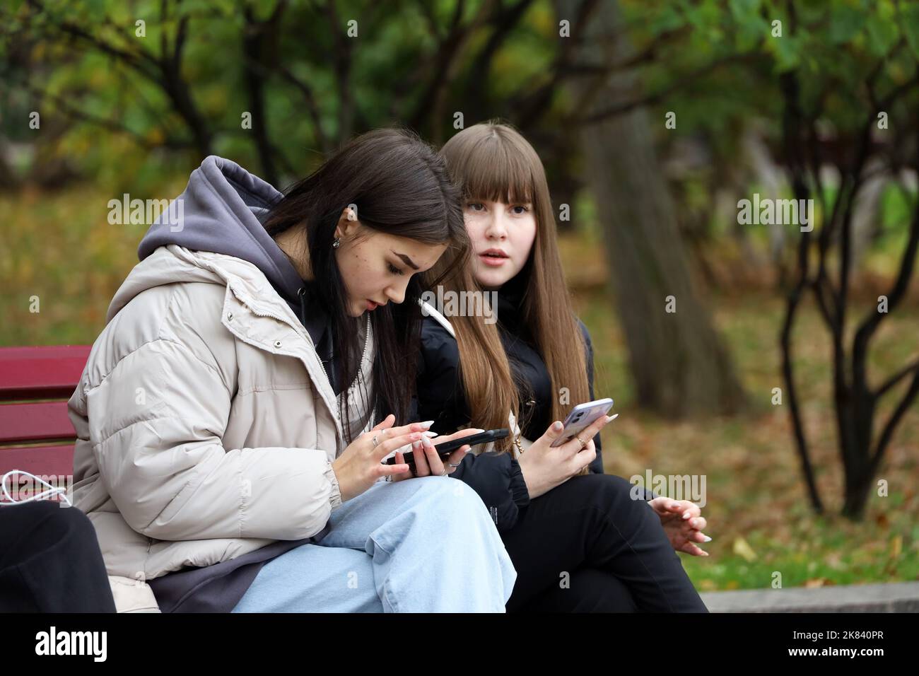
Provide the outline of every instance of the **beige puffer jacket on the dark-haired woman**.
<path id="1" fill-rule="evenodd" d="M 260 269 L 160 246 L 130 272 L 107 322 L 68 412 L 74 506 L 96 527 L 119 612 L 130 600 L 117 581 L 149 590 L 145 580 L 181 567 L 323 529 L 341 504 L 330 464 L 346 447 L 339 399 Z M 369 389 L 369 323 L 362 339 Z M 351 406 L 357 435 L 373 421 L 361 425 Z"/>

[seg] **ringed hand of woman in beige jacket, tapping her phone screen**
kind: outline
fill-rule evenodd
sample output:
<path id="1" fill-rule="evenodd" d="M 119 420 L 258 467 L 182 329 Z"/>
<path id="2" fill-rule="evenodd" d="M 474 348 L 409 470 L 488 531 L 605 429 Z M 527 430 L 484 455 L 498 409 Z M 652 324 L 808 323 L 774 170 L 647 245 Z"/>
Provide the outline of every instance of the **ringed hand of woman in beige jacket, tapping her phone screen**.
<path id="1" fill-rule="evenodd" d="M 411 425 L 392 427 L 396 417 L 388 415 L 379 425 L 368 430 L 352 441 L 332 463 L 335 478 L 338 479 L 338 489 L 341 491 L 342 502 L 355 498 L 371 487 L 380 476 L 402 476 L 409 471 L 407 464 L 402 459 L 396 460 L 397 464 L 382 464 L 383 458 L 395 449 L 419 441 L 424 436 L 425 430 L 431 426 L 430 422 L 414 422 Z M 376 439 L 376 444 L 374 444 Z"/>

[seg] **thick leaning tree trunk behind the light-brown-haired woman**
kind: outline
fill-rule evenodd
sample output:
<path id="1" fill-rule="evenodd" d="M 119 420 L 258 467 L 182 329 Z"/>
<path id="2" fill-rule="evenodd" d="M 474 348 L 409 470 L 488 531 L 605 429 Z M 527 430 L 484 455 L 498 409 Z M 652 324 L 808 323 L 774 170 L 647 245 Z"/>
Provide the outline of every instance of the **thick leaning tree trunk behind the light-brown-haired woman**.
<path id="1" fill-rule="evenodd" d="M 577 6 L 574 0 L 560 2 L 560 18 L 573 21 Z M 571 28 L 586 31 L 575 64 L 621 63 L 630 57 L 624 37 L 593 37 L 624 35 L 615 2 L 597 3 L 586 25 Z M 586 102 L 574 111 L 578 117 L 640 95 L 628 72 L 606 81 L 582 77 L 573 83 L 575 100 Z M 664 119 L 658 121 L 663 129 Z M 667 417 L 736 411 L 743 390 L 694 286 L 647 112 L 632 109 L 587 123 L 580 133 L 638 403 Z M 667 312 L 668 301 L 675 312 Z"/>

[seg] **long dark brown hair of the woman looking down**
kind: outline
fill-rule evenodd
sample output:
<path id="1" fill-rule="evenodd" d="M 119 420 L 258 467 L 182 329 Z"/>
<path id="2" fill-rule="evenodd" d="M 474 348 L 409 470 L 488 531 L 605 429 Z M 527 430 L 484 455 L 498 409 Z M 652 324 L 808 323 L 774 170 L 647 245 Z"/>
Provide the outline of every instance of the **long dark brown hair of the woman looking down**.
<path id="1" fill-rule="evenodd" d="M 463 225 L 459 190 L 444 160 L 414 132 L 380 129 L 346 143 L 309 177 L 293 184 L 267 215 L 272 237 L 305 224 L 307 251 L 316 292 L 332 318 L 335 359 L 345 384 L 343 415 L 348 418 L 347 389 L 360 367 L 359 334 L 366 319 L 347 314 L 347 294 L 335 262 L 335 225 L 348 205 L 357 221 L 382 233 L 427 245 L 448 245 L 451 258 L 468 256 L 469 235 Z M 437 276 L 414 276 L 402 304 L 388 303 L 370 314 L 376 344 L 373 399 L 376 419 L 395 414 L 405 424 L 414 392 L 415 360 L 421 334 L 417 298 Z M 343 420 L 347 441 L 350 420 Z"/>

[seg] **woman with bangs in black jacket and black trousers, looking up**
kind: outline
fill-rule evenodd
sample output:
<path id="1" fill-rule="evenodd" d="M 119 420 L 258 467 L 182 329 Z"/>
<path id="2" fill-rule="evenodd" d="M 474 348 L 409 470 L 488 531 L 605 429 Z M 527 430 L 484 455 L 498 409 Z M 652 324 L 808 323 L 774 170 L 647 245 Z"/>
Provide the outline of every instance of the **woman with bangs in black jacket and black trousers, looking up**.
<path id="1" fill-rule="evenodd" d="M 706 612 L 675 554 L 708 556 L 695 544 L 709 540 L 698 506 L 603 474 L 598 432 L 611 418 L 550 448 L 567 411 L 594 399 L 593 350 L 565 288 L 539 156 L 493 123 L 442 153 L 465 193 L 473 256 L 442 259 L 444 285 L 428 298 L 496 292 L 497 325 L 456 307 L 428 312 L 416 416 L 440 433 L 519 424 L 450 474 L 482 497 L 514 562 L 507 610 Z M 414 456 L 419 475 L 445 473 L 427 440 Z"/>

